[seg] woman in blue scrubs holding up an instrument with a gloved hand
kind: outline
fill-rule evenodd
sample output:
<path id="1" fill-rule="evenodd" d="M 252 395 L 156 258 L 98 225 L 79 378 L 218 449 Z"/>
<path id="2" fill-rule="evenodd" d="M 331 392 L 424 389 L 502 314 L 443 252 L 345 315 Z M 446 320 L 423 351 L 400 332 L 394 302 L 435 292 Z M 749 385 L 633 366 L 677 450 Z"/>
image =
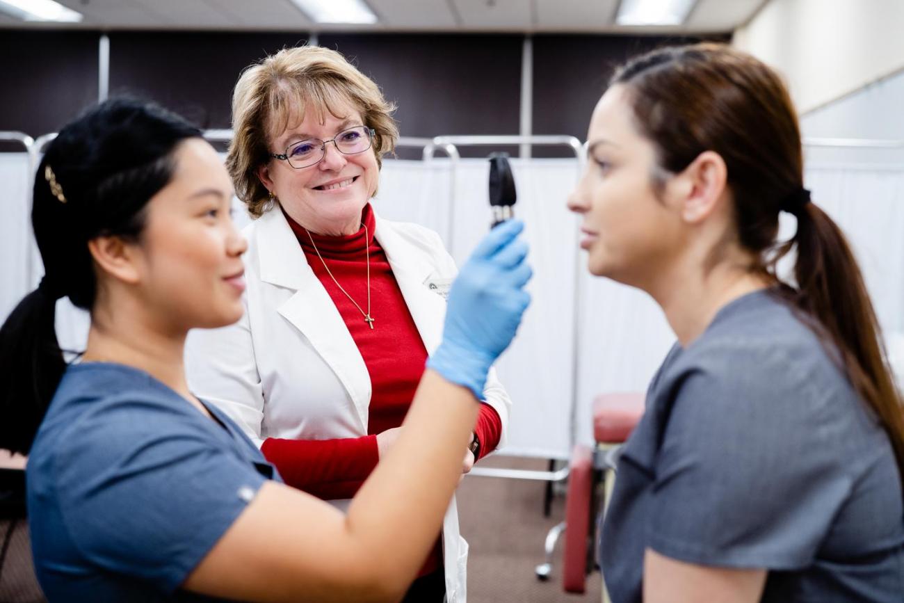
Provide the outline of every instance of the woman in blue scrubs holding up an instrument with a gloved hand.
<path id="1" fill-rule="evenodd" d="M 412 429 L 344 514 L 283 485 L 186 385 L 188 330 L 242 312 L 232 194 L 200 131 L 134 101 L 89 110 L 42 158 L 32 218 L 46 274 L 0 330 L 0 448 L 30 453 L 51 601 L 398 600 L 436 540 L 486 373 L 529 302 L 521 224 L 494 229 L 461 270 Z M 91 313 L 71 365 L 53 330 L 60 297 Z"/>

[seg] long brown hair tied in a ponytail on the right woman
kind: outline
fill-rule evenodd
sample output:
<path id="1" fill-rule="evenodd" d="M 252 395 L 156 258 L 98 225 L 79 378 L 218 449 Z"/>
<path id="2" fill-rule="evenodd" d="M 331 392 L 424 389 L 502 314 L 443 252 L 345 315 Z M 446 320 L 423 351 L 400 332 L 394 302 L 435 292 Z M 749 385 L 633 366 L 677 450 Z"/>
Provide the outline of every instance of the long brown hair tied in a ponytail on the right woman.
<path id="1" fill-rule="evenodd" d="M 904 476 L 904 407 L 880 327 L 842 231 L 804 188 L 800 129 L 784 83 L 748 54 L 711 43 L 648 52 L 610 83 L 626 87 L 636 127 L 666 172 L 680 173 L 703 151 L 722 157 L 740 245 L 758 257 L 751 271 L 779 282 L 777 261 L 796 248 L 796 287 L 777 287 L 777 295 L 833 357 L 840 355 L 853 387 L 889 434 Z M 783 211 L 796 215 L 797 232 L 777 244 Z"/>

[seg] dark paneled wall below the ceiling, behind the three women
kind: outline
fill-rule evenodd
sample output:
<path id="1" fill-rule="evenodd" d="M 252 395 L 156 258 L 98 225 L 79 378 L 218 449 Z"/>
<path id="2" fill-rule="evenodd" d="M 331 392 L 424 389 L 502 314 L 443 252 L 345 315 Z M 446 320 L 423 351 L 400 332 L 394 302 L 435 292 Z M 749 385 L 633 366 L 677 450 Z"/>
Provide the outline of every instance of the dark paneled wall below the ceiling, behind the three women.
<path id="1" fill-rule="evenodd" d="M 307 37 L 298 32 L 108 35 L 111 94 L 155 99 L 202 127 L 230 126 L 231 91 L 242 69 Z M 53 132 L 97 99 L 99 37 L 99 32 L 2 31 L 0 130 Z M 682 40 L 535 36 L 533 132 L 583 139 L 614 66 L 669 42 Z M 521 35 L 322 34 L 319 43 L 343 52 L 398 104 L 402 136 L 518 133 Z M 551 155 L 550 149 L 535 150 Z"/>

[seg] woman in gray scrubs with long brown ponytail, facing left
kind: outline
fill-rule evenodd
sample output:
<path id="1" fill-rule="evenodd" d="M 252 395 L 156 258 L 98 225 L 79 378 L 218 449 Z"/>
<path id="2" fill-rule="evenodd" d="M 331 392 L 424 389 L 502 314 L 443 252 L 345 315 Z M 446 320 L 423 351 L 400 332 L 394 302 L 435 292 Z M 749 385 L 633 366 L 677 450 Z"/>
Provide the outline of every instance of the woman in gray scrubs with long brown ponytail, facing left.
<path id="1" fill-rule="evenodd" d="M 617 71 L 588 137 L 569 205 L 589 270 L 649 293 L 678 338 L 618 463 L 613 601 L 904 600 L 901 403 L 781 80 L 726 46 L 657 50 Z"/>

